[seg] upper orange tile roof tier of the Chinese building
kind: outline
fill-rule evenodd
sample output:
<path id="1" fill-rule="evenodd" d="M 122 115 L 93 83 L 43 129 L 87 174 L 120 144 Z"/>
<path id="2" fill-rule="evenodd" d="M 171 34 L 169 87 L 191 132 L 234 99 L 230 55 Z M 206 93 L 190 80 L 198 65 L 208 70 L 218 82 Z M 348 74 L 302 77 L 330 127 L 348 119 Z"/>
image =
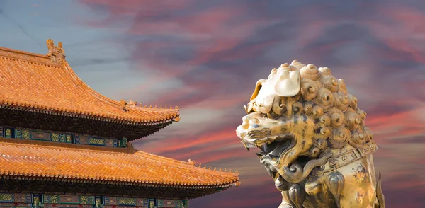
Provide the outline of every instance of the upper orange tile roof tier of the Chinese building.
<path id="1" fill-rule="evenodd" d="M 81 81 L 66 61 L 56 63 L 44 54 L 3 47 L 0 47 L 0 108 L 133 125 L 180 120 L 177 108 L 142 108 L 102 96 Z"/>

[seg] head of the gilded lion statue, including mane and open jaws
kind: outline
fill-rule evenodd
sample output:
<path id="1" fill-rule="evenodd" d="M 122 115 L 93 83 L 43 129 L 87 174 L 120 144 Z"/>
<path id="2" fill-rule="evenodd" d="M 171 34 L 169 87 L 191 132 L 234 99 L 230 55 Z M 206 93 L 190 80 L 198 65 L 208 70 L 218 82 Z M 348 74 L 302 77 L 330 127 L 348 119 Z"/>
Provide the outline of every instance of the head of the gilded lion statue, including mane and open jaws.
<path id="1" fill-rule="evenodd" d="M 331 149 L 363 146 L 373 138 L 365 112 L 327 67 L 282 64 L 260 79 L 237 127 L 246 149 L 259 148 L 260 162 L 279 190 L 300 183 L 332 156 Z"/>

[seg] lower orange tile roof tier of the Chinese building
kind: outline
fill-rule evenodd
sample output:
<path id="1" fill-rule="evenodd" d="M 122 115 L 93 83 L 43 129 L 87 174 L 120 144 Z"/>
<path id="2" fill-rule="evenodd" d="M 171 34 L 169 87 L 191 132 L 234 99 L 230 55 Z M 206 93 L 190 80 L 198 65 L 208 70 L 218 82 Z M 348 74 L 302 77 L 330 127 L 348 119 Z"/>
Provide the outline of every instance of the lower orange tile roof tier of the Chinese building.
<path id="1" fill-rule="evenodd" d="M 199 168 L 193 163 L 148 154 L 131 147 L 50 146 L 48 142 L 2 137 L 0 175 L 182 188 L 239 185 L 239 173 Z"/>

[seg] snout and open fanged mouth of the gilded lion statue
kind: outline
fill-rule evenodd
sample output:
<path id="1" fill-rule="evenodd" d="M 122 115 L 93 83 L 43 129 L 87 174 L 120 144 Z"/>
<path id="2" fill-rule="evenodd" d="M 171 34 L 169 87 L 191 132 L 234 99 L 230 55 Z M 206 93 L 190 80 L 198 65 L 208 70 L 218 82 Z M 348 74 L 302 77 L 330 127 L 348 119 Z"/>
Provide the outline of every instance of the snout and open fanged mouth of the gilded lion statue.
<path id="1" fill-rule="evenodd" d="M 312 127 L 314 120 L 302 115 L 270 120 L 261 112 L 252 112 L 243 118 L 237 134 L 246 149 L 259 148 L 260 163 L 276 187 L 285 190 L 287 183 L 300 183 L 331 156 L 316 148 L 320 145 L 314 142 Z"/>

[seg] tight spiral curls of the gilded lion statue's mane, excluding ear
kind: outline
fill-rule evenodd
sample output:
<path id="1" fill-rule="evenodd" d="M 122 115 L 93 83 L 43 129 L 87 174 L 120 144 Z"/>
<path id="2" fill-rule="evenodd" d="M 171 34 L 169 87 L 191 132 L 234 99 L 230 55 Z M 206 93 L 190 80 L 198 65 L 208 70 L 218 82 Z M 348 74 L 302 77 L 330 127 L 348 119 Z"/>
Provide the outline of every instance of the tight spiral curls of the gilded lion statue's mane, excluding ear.
<path id="1" fill-rule="evenodd" d="M 247 113 L 261 112 L 260 108 L 263 107 L 270 117 L 282 115 L 283 112 L 288 117 L 305 115 L 312 118 L 317 134 L 311 151 L 317 154 L 328 146 L 331 149 L 341 149 L 349 143 L 360 147 L 373 139 L 373 132 L 365 126 L 366 113 L 357 107 L 356 96 L 348 93 L 344 80 L 332 76 L 329 68 L 317 68 L 313 64 L 305 65 L 294 60 L 291 64 L 282 64 L 278 69 L 272 69 L 268 80 L 280 71 L 298 71 L 300 90 L 290 97 L 280 96 L 275 92 L 269 96 L 275 99 L 274 102 L 266 102 L 267 98 L 256 100 L 262 83 L 267 81 L 261 79 L 246 108 Z M 259 105 L 262 106 L 259 108 Z"/>

